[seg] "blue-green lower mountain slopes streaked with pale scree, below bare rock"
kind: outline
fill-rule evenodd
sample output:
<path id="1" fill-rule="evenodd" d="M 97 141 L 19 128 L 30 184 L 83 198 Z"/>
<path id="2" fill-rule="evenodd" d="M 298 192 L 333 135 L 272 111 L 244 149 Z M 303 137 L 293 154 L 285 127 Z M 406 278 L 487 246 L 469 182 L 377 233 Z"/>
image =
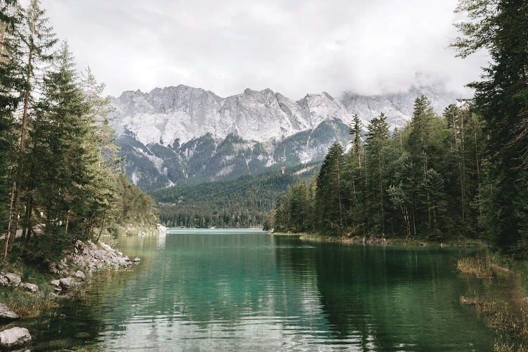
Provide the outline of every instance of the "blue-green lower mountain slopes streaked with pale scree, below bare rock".
<path id="1" fill-rule="evenodd" d="M 145 145 L 128 135 L 120 136 L 116 143 L 130 180 L 144 191 L 153 191 L 173 184 L 234 180 L 242 175 L 267 172 L 278 165 L 290 168 L 306 159 L 322 161 L 327 146 L 336 140 L 346 141 L 347 131 L 348 127 L 340 120 L 323 121 L 313 130 L 273 142 L 272 149 L 269 143 L 266 147 L 235 134 L 218 140 L 210 133 L 168 146 Z"/>

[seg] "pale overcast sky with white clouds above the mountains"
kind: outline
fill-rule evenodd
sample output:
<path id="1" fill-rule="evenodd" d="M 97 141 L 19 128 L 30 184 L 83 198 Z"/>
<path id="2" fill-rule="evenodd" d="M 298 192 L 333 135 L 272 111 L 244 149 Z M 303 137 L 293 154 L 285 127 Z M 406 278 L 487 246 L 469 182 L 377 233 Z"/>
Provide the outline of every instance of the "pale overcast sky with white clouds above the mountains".
<path id="1" fill-rule="evenodd" d="M 479 77 L 483 56 L 448 44 L 457 0 L 53 0 L 43 6 L 80 68 L 106 92 L 187 84 L 220 96 L 246 87 L 379 94 L 448 89 Z"/>

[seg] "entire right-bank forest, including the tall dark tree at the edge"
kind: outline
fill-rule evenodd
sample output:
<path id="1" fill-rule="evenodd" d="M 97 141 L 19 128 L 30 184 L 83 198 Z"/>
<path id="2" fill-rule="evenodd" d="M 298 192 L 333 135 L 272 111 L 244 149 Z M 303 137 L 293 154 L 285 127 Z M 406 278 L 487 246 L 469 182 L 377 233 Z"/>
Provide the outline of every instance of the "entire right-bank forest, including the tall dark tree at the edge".
<path id="1" fill-rule="evenodd" d="M 412 120 L 389 131 L 383 114 L 360 122 L 353 148 L 334 144 L 318 177 L 279 198 L 275 228 L 420 237 L 486 239 L 526 256 L 528 246 L 528 4 L 461 1 L 469 22 L 453 44 L 462 57 L 491 54 L 476 94 L 437 116 L 422 96 Z"/>

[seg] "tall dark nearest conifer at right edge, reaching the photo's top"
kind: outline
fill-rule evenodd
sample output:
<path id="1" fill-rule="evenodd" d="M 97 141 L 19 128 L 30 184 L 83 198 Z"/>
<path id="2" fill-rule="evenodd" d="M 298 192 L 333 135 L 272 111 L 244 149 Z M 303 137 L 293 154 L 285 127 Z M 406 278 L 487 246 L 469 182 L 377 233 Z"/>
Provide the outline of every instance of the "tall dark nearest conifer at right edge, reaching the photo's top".
<path id="1" fill-rule="evenodd" d="M 480 49 L 491 55 L 483 80 L 471 84 L 488 139 L 480 222 L 496 246 L 522 254 L 528 246 L 528 3 L 463 0 L 458 11 L 469 17 L 457 24 L 459 56 Z"/>

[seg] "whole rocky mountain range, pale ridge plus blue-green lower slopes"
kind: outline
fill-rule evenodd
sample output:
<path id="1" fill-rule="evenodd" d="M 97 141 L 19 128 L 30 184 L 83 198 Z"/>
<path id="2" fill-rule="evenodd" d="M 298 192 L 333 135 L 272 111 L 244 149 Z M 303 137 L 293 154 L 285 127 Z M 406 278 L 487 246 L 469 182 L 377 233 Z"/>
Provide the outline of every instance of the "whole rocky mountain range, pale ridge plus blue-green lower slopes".
<path id="1" fill-rule="evenodd" d="M 366 126 L 383 112 L 391 127 L 402 126 L 421 94 L 437 113 L 456 101 L 439 87 L 380 96 L 345 93 L 341 99 L 323 92 L 294 101 L 271 89 L 221 98 L 179 85 L 123 92 L 112 99 L 113 127 L 127 175 L 148 190 L 321 160 L 333 142 L 348 144 L 353 114 Z"/>

